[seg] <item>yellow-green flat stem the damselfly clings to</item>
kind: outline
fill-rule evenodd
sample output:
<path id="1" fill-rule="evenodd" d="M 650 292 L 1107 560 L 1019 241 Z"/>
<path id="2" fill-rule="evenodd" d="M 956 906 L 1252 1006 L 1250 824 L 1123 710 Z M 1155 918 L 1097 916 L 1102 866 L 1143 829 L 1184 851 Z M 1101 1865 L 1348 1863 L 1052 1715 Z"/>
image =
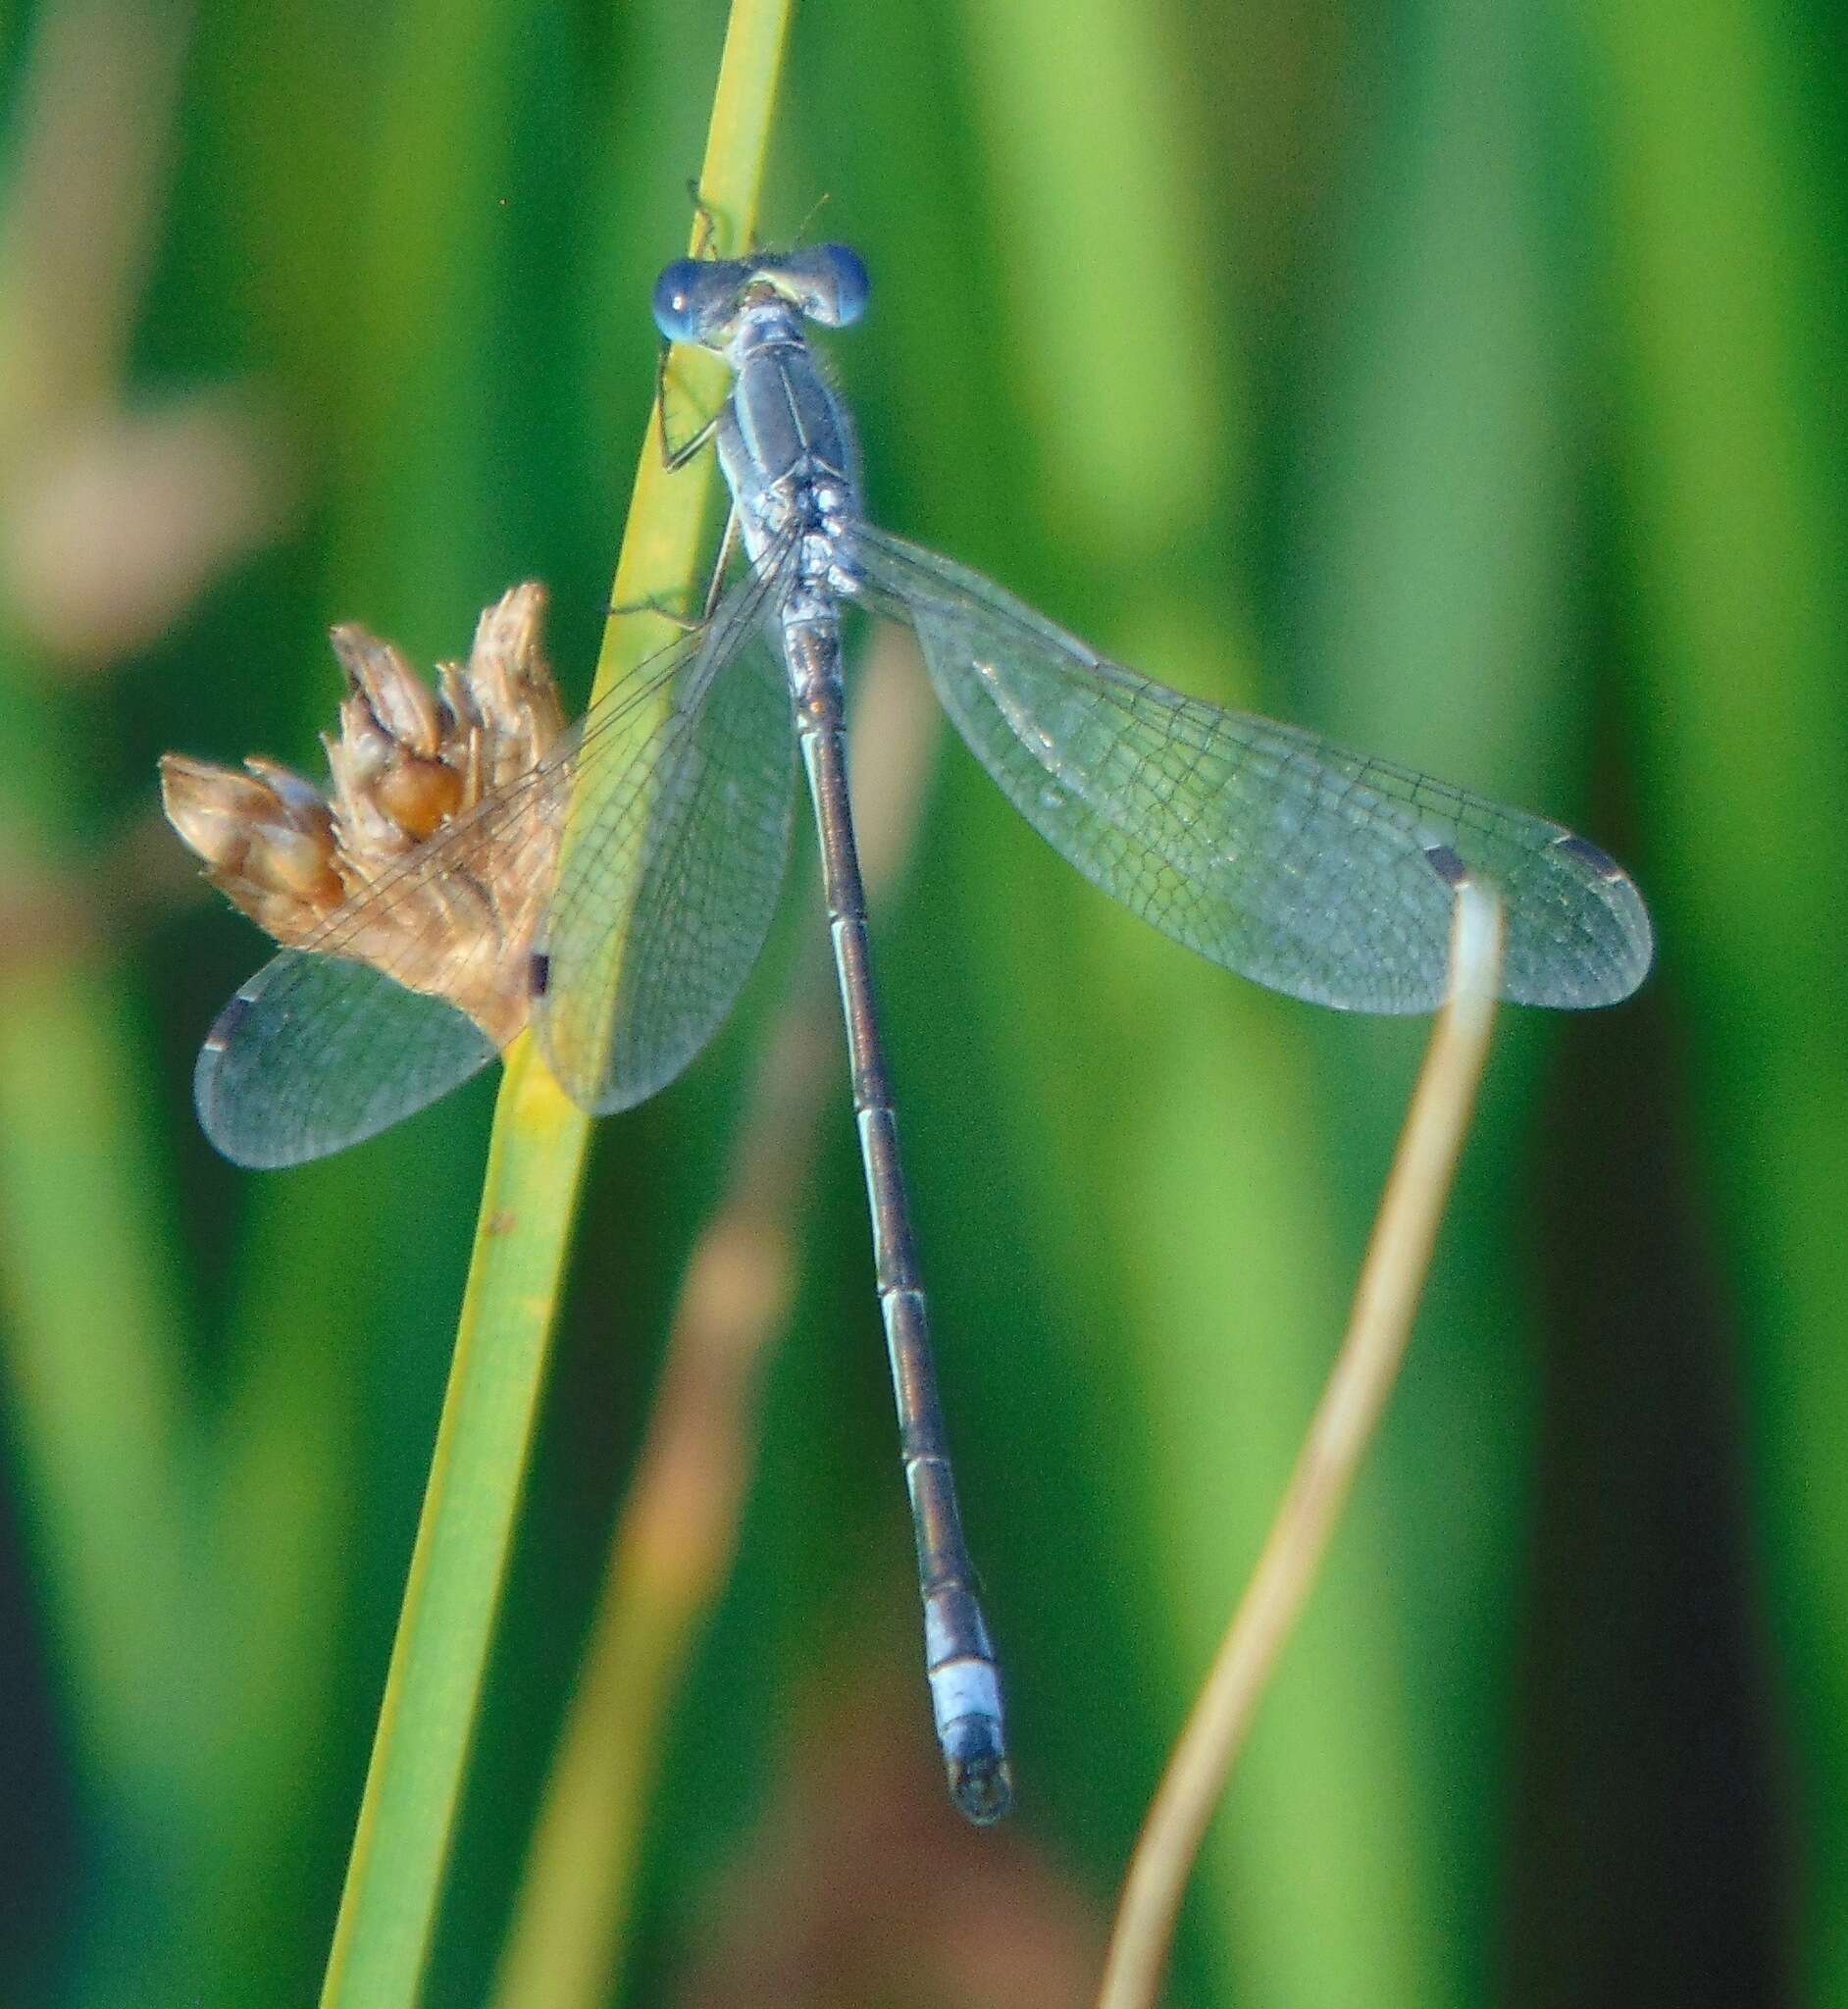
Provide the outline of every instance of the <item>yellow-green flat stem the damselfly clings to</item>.
<path id="1" fill-rule="evenodd" d="M 737 0 L 719 64 L 705 199 L 747 237 L 763 181 L 787 0 Z M 709 468 L 669 480 L 647 440 L 615 605 L 685 593 L 699 565 Z M 611 621 L 593 703 L 663 639 L 657 619 Z M 372 1766 L 354 1836 L 323 2009 L 414 2003 L 454 1834 L 500 1585 L 512 1545 L 589 1125 L 528 1041 L 508 1053 L 456 1362 Z"/>

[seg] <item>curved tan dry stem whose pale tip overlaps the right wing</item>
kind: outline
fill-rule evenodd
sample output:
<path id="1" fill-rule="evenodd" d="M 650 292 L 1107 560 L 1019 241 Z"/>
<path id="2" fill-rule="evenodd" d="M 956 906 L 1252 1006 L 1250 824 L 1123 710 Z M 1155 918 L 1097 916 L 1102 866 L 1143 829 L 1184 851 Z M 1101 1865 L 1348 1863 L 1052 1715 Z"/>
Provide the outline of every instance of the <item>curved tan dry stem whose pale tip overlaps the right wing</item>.
<path id="1" fill-rule="evenodd" d="M 1450 994 L 1412 1093 L 1348 1332 L 1257 1569 L 1143 1824 L 1105 1963 L 1101 2009 L 1151 2009 L 1157 1999 L 1207 1822 L 1398 1378 L 1488 1059 L 1500 948 L 1500 902 L 1464 886 L 1450 938 Z"/>

